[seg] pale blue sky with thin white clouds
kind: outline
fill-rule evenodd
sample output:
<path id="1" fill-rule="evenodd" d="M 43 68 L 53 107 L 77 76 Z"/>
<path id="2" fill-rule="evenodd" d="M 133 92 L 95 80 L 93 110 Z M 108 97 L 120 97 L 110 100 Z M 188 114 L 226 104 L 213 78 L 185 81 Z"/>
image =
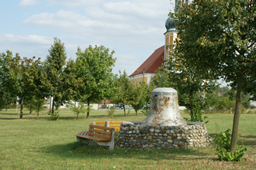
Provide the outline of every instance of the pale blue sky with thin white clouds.
<path id="1" fill-rule="evenodd" d="M 114 50 L 113 73 L 128 75 L 164 45 L 165 21 L 174 0 L 1 0 L 0 53 L 46 59 L 54 37 L 68 59 L 78 46 Z"/>

